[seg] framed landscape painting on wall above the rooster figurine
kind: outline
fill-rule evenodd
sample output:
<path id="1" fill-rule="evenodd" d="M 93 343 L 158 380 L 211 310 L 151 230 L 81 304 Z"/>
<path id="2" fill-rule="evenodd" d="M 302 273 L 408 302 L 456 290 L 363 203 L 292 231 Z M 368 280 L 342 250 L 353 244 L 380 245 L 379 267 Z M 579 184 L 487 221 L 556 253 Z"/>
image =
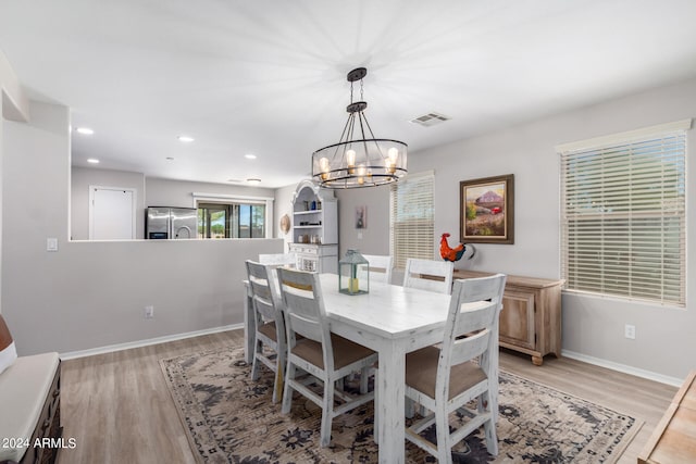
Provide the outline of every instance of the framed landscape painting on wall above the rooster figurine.
<path id="1" fill-rule="evenodd" d="M 459 183 L 462 243 L 514 243 L 514 175 Z"/>

